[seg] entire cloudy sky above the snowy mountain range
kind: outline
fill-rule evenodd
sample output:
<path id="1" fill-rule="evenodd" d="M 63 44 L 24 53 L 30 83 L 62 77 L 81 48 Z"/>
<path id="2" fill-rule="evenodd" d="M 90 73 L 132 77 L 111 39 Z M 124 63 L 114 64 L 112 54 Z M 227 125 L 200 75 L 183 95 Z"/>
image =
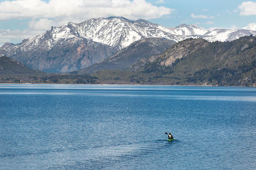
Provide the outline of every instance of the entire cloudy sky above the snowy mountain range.
<path id="1" fill-rule="evenodd" d="M 20 43 L 51 26 L 111 16 L 164 27 L 235 29 L 256 24 L 256 0 L 0 0 L 0 45 Z"/>

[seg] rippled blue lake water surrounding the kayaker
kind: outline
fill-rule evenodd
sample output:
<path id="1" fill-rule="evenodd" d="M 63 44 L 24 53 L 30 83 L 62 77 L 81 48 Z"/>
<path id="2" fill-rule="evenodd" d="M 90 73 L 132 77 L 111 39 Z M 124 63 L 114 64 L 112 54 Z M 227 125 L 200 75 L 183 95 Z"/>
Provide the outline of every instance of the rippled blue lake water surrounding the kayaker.
<path id="1" fill-rule="evenodd" d="M 0 169 L 256 169 L 255 141 L 256 88 L 0 85 Z"/>

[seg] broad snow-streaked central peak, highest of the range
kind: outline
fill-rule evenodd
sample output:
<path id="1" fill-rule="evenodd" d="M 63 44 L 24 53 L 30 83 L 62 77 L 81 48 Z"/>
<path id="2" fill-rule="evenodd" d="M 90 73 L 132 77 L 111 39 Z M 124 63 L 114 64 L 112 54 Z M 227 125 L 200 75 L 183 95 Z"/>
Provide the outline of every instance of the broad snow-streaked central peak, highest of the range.
<path id="1" fill-rule="evenodd" d="M 79 31 L 82 31 L 79 34 L 92 41 L 104 43 L 120 50 L 143 38 L 167 38 L 169 34 L 163 28 L 143 19 L 129 20 L 124 17 L 108 17 L 86 20 L 79 27 Z M 168 29 L 166 30 L 168 31 Z"/>

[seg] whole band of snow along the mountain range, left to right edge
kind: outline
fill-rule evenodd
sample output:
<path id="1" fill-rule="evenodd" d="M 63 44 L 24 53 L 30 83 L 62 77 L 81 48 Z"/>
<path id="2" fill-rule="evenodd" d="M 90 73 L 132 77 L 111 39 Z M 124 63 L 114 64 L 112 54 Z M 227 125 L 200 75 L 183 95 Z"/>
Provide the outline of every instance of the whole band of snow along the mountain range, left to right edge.
<path id="1" fill-rule="evenodd" d="M 52 27 L 35 38 L 22 41 L 19 47 L 26 51 L 38 45 L 45 49 L 67 39 L 89 39 L 120 50 L 143 38 L 166 38 L 182 41 L 187 38 L 204 38 L 207 41 L 231 41 L 241 36 L 256 34 L 256 24 L 243 29 L 207 30 L 196 25 L 182 24 L 174 28 L 148 22 L 147 20 L 128 20 L 124 17 L 93 18 L 79 24 L 69 22 L 61 27 Z M 1 45 L 3 48 L 4 45 Z M 17 47 L 17 46 L 16 46 Z"/>

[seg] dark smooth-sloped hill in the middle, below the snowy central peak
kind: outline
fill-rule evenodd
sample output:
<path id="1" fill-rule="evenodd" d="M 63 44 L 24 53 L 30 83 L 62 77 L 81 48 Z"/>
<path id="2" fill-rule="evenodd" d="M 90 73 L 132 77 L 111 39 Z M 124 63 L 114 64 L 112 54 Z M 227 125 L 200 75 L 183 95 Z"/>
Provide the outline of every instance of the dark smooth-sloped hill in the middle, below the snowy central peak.
<path id="1" fill-rule="evenodd" d="M 86 73 L 93 73 L 97 70 L 106 69 L 128 69 L 129 66 L 141 59 L 147 59 L 152 55 L 162 53 L 175 41 L 165 38 L 145 38 L 135 41 L 107 59 L 84 69 Z"/>

